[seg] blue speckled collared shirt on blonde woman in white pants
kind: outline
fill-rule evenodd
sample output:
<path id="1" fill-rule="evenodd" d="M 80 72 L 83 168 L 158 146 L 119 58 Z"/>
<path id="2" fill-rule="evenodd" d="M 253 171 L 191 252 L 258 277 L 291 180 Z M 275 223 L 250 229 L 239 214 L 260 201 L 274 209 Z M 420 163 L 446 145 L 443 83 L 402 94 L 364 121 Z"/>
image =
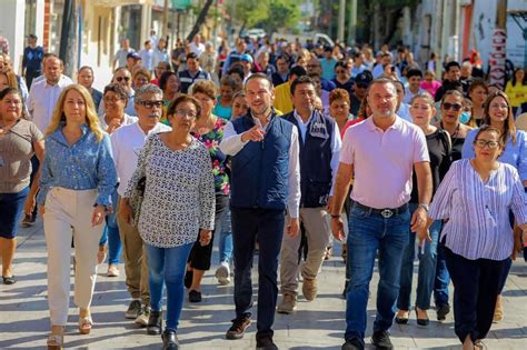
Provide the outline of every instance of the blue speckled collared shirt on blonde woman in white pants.
<path id="1" fill-rule="evenodd" d="M 82 137 L 73 144 L 66 140 L 62 126 L 46 137 L 46 156 L 37 197 L 40 206 L 44 204 L 51 188 L 62 187 L 79 191 L 97 189 L 99 194 L 95 204 L 109 207 L 117 184 L 110 138 L 105 133 L 98 142 L 87 124 L 82 124 L 81 130 Z"/>

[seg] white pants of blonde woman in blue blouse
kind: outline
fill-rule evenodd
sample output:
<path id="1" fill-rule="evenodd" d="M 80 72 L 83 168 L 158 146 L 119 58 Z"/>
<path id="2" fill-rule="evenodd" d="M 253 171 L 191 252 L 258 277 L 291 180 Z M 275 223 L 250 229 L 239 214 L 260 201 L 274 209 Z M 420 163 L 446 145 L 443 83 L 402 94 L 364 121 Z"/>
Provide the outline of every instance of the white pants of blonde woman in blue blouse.
<path id="1" fill-rule="evenodd" d="M 91 304 L 97 252 L 105 224 L 91 227 L 97 190 L 52 188 L 46 198 L 43 227 L 48 246 L 48 303 L 52 326 L 66 326 L 70 297 L 71 237 L 74 239 L 74 303 Z"/>

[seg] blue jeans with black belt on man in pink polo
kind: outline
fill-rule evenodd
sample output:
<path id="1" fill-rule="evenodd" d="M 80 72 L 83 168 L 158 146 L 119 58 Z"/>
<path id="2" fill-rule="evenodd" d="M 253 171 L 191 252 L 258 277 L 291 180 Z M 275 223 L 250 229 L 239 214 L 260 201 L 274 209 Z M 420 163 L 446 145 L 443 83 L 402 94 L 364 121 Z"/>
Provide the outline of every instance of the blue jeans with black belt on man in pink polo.
<path id="1" fill-rule="evenodd" d="M 384 218 L 351 203 L 347 241 L 350 281 L 346 294 L 345 339 L 365 337 L 369 283 L 377 250 L 379 250 L 380 279 L 377 287 L 377 317 L 374 331 L 384 331 L 391 327 L 396 311 L 395 303 L 399 294 L 401 251 L 408 246 L 409 229 L 408 210 Z"/>

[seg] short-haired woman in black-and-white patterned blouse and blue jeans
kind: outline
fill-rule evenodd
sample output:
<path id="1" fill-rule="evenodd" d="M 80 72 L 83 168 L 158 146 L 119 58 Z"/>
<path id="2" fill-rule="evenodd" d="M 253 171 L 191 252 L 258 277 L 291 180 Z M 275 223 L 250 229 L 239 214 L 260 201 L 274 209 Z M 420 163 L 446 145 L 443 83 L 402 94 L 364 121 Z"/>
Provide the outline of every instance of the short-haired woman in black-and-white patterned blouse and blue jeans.
<path id="1" fill-rule="evenodd" d="M 161 103 L 161 101 L 159 101 Z M 163 349 L 177 349 L 183 304 L 183 276 L 196 239 L 210 243 L 215 221 L 215 186 L 207 148 L 190 134 L 200 117 L 200 103 L 182 94 L 169 106 L 172 131 L 152 134 L 139 154 L 120 209 L 131 216 L 128 198 L 146 177 L 138 230 L 146 244 L 150 284 L 147 332 L 161 333 L 162 287 L 167 287 Z"/>

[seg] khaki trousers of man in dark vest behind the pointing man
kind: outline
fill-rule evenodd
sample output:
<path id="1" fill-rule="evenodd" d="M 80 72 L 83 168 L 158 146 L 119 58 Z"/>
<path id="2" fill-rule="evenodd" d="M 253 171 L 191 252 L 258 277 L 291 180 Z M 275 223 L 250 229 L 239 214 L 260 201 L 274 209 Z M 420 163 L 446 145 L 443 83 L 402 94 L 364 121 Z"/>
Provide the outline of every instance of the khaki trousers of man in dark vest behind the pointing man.
<path id="1" fill-rule="evenodd" d="M 314 279 L 322 266 L 326 247 L 329 243 L 330 230 L 326 221 L 326 208 L 300 208 L 300 223 L 304 224 L 308 254 L 306 261 L 300 264 L 300 232 L 291 238 L 284 233 L 280 254 L 280 282 L 281 293 L 297 294 L 298 274 L 302 278 Z M 289 217 L 286 219 L 288 222 Z"/>

